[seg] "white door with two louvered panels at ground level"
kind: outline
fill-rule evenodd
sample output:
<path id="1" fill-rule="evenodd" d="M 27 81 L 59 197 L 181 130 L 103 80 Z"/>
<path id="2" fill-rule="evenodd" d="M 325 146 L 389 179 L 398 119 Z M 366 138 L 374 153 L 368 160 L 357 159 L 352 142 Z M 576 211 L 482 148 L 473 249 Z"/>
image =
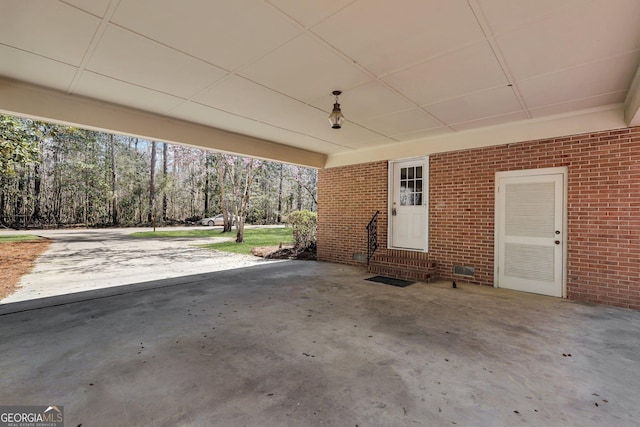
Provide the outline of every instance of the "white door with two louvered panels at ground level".
<path id="1" fill-rule="evenodd" d="M 565 168 L 496 174 L 500 288 L 565 296 Z"/>

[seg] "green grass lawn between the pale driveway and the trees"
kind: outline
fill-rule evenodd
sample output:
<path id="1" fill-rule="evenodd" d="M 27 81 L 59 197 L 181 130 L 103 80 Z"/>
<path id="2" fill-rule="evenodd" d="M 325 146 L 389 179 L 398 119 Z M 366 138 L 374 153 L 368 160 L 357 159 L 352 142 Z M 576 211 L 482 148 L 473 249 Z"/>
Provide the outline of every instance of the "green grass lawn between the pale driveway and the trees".
<path id="1" fill-rule="evenodd" d="M 236 243 L 235 229 L 230 233 L 221 233 L 220 229 L 215 230 L 180 230 L 180 231 L 144 231 L 132 233 L 131 236 L 138 238 L 207 238 L 207 237 L 228 237 L 231 242 L 211 243 L 198 245 L 202 248 L 215 249 L 217 251 L 234 252 L 238 254 L 250 254 L 251 248 L 258 246 L 278 246 L 293 243 L 293 230 L 289 227 L 277 228 L 245 228 L 244 242 Z"/>

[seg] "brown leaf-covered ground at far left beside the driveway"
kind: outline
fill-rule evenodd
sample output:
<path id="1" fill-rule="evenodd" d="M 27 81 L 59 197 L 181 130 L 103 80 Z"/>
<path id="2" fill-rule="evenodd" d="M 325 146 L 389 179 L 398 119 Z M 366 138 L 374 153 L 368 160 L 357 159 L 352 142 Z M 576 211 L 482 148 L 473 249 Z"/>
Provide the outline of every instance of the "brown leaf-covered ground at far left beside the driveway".
<path id="1" fill-rule="evenodd" d="M 0 243 L 0 300 L 16 291 L 20 278 L 33 269 L 50 244 L 48 239 Z"/>

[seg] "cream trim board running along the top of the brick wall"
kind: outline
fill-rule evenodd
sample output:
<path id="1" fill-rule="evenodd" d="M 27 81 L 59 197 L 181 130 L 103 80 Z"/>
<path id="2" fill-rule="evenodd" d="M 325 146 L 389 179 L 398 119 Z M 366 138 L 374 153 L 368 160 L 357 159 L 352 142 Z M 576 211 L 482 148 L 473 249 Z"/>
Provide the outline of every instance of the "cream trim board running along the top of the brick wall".
<path id="1" fill-rule="evenodd" d="M 329 155 L 326 168 L 627 127 L 622 104 Z"/>

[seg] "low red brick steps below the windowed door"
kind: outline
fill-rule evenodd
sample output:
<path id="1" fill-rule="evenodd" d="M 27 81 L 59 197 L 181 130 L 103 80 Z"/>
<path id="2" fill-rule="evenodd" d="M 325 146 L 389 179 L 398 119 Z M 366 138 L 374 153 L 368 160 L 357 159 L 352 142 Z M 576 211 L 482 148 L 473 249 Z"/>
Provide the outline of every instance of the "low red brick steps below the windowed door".
<path id="1" fill-rule="evenodd" d="M 367 271 L 380 276 L 416 282 L 428 283 L 435 280 L 436 263 L 428 259 L 421 259 L 423 258 L 422 256 L 416 256 L 415 254 L 415 252 L 407 252 L 404 255 L 375 254 L 371 258 Z"/>

